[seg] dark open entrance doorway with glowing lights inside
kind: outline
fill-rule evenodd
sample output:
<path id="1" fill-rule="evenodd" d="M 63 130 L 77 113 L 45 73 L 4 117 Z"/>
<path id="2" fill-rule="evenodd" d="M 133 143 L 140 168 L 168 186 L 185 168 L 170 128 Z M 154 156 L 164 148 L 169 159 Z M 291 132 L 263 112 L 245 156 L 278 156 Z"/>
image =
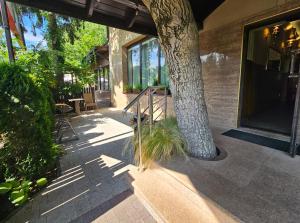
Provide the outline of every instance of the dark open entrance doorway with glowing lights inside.
<path id="1" fill-rule="evenodd" d="M 241 126 L 290 135 L 300 73 L 300 20 L 250 29 Z"/>

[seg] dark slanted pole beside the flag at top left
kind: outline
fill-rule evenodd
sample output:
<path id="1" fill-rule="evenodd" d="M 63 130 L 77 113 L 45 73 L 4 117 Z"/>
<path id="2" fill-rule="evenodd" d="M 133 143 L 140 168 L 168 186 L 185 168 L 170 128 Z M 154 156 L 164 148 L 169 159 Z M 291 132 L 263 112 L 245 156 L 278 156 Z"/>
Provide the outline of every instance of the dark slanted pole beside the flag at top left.
<path id="1" fill-rule="evenodd" d="M 9 57 L 9 61 L 13 63 L 15 61 L 15 57 L 14 57 L 13 45 L 12 45 L 10 28 L 8 23 L 7 7 L 6 7 L 5 0 L 0 0 L 0 6 L 1 6 L 0 9 L 1 9 L 3 28 L 5 30 L 8 57 Z"/>

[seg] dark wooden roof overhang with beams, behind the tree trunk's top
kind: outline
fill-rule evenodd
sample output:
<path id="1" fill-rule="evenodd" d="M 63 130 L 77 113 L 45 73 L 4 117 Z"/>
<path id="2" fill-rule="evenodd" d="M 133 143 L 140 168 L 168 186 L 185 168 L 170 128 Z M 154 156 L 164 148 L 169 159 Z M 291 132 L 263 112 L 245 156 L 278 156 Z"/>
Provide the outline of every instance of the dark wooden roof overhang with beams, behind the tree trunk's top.
<path id="1" fill-rule="evenodd" d="M 140 34 L 157 35 L 155 24 L 142 0 L 8 0 Z M 196 22 L 203 20 L 225 0 L 190 0 Z"/>

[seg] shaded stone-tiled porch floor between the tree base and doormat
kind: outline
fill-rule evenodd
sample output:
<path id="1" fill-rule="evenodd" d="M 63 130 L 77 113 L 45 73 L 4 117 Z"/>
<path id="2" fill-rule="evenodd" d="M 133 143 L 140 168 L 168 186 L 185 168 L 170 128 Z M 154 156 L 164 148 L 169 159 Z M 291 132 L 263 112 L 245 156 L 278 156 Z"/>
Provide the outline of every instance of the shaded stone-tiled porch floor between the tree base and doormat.
<path id="1" fill-rule="evenodd" d="M 300 156 L 222 135 L 227 130 L 213 129 L 225 159 L 178 158 L 162 166 L 242 222 L 300 222 Z"/>

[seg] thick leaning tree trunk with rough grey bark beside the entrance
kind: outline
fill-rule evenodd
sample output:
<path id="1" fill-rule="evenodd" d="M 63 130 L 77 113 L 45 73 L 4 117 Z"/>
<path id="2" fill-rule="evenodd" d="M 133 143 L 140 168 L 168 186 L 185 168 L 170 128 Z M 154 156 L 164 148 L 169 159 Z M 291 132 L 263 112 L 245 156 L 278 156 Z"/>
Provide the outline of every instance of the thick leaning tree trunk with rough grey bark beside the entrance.
<path id="1" fill-rule="evenodd" d="M 188 0 L 143 0 L 156 24 L 170 72 L 178 126 L 190 155 L 216 156 L 204 99 L 199 34 Z"/>

